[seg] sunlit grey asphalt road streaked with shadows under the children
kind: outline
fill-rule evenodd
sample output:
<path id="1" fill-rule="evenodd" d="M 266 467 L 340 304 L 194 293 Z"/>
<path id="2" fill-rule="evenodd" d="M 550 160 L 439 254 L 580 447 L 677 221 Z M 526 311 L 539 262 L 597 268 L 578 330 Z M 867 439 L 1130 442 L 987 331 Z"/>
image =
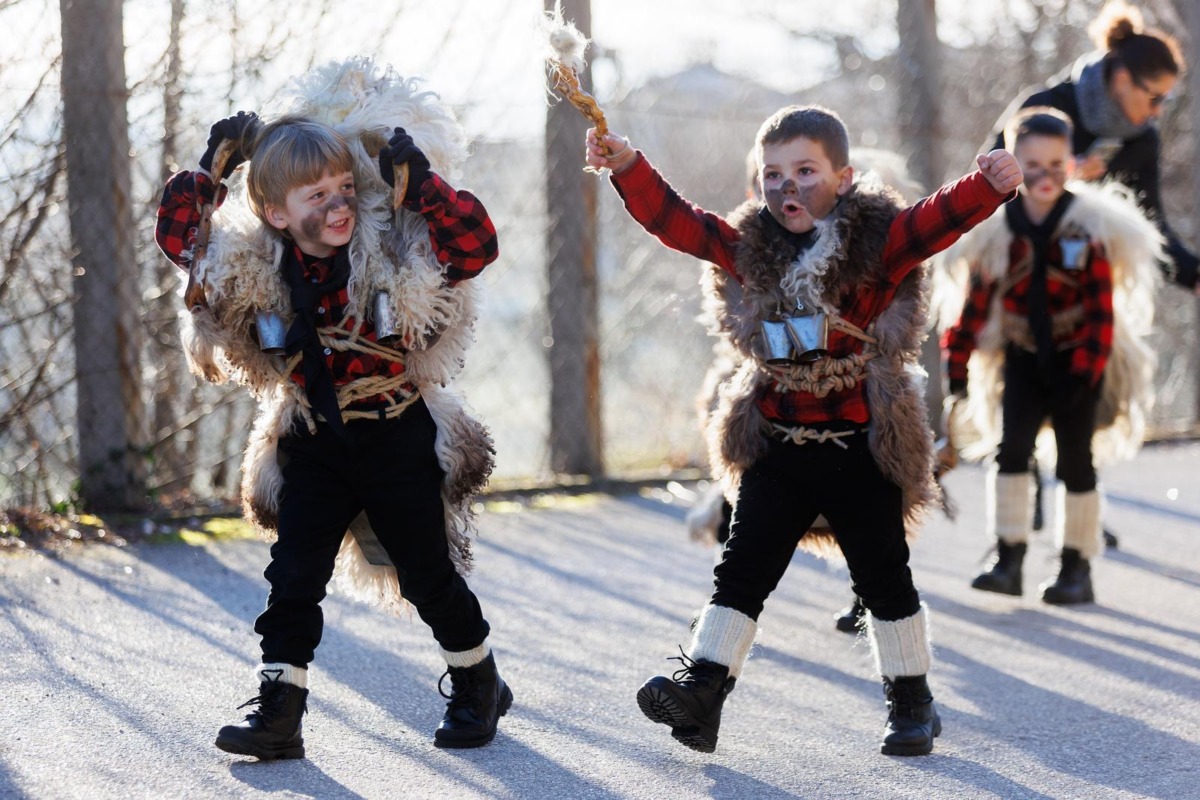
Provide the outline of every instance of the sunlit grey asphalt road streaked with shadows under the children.
<path id="1" fill-rule="evenodd" d="M 252 621 L 266 545 L 91 546 L 0 555 L 4 798 L 1198 798 L 1200 444 L 1105 473 L 1121 546 L 1098 602 L 1043 604 L 1049 531 L 1026 595 L 968 588 L 986 542 L 983 473 L 947 483 L 913 572 L 932 614 L 932 756 L 878 753 L 886 710 L 865 642 L 839 633 L 845 567 L 797 554 L 704 756 L 638 712 L 686 639 L 712 553 L 682 505 L 575 498 L 481 516 L 470 578 L 516 694 L 496 741 L 440 751 L 436 644 L 415 615 L 331 596 L 310 675 L 307 758 L 217 751 L 256 693 Z"/>

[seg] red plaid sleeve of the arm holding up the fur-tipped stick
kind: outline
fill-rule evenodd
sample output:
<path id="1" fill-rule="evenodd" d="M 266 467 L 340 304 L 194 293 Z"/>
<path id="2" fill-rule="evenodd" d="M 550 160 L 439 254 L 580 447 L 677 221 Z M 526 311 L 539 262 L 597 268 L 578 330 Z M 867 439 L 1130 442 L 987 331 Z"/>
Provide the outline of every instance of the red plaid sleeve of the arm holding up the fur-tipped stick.
<path id="1" fill-rule="evenodd" d="M 733 248 L 739 235 L 725 219 L 679 196 L 641 152 L 612 185 L 647 233 L 671 249 L 712 261 L 737 277 Z"/>

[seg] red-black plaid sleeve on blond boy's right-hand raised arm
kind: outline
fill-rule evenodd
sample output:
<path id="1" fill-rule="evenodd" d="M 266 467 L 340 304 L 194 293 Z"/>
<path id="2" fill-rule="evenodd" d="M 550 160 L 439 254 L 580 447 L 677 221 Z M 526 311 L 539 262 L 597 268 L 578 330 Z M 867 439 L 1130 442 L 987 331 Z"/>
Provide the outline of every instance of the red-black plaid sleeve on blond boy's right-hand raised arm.
<path id="1" fill-rule="evenodd" d="M 455 191 L 436 173 L 421 185 L 420 197 L 404 205 L 428 223 L 433 252 L 450 283 L 475 277 L 499 255 L 496 225 L 484 204 L 470 192 Z"/>

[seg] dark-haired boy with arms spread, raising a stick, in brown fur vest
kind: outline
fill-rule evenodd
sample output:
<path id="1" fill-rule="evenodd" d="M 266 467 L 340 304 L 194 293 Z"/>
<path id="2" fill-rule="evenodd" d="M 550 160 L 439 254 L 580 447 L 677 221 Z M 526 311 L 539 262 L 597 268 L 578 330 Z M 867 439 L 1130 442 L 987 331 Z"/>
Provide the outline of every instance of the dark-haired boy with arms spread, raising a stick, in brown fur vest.
<path id="1" fill-rule="evenodd" d="M 630 215 L 742 289 L 719 319 L 739 363 L 709 426 L 710 461 L 736 491 L 730 540 L 684 668 L 650 679 L 638 705 L 680 744 L 712 752 L 725 697 L 797 543 L 838 546 L 869 609 L 889 708 L 881 750 L 929 753 L 941 722 L 905 539 L 936 493 L 916 374 L 928 309 L 920 265 L 991 216 L 1020 170 L 995 151 L 979 157 L 982 172 L 905 209 L 893 191 L 854 182 L 846 128 L 826 109 L 776 112 L 756 145 L 766 203 L 748 201 L 726 221 L 679 197 L 623 137 L 588 133 L 587 163 L 612 169 Z M 799 335 L 822 324 L 821 345 L 775 357 L 773 326 Z M 832 533 L 809 530 L 818 516 Z"/>

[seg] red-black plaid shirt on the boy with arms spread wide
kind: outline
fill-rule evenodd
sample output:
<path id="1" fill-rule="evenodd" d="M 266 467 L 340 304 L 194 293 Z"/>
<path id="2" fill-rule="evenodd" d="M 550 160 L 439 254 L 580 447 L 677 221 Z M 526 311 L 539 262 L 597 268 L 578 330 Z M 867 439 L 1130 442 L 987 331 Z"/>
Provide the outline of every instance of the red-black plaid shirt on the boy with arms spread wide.
<path id="1" fill-rule="evenodd" d="M 734 251 L 740 239 L 738 231 L 715 213 L 682 198 L 642 154 L 629 169 L 613 175 L 612 182 L 630 215 L 659 241 L 672 249 L 712 261 L 742 282 L 734 265 Z M 973 225 L 991 216 L 1006 199 L 991 188 L 980 173 L 972 173 L 901 211 L 892 223 L 883 251 L 887 278 L 844 294 L 838 302 L 838 313 L 865 330 L 892 302 L 896 285 L 913 267 L 949 247 Z M 862 342 L 854 337 L 829 331 L 832 357 L 842 357 L 860 348 Z M 829 392 L 826 397 L 780 391 L 774 384 L 768 384 L 760 390 L 757 402 L 763 416 L 782 422 L 811 425 L 870 420 L 862 381 L 845 391 Z"/>

